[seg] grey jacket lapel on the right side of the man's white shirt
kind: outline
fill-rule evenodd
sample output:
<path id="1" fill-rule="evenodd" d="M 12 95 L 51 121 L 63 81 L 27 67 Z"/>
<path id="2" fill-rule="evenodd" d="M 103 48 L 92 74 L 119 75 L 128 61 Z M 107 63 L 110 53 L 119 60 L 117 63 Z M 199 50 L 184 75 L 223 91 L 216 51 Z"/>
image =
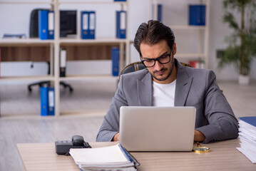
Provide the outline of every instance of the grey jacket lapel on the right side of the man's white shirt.
<path id="1" fill-rule="evenodd" d="M 178 73 L 176 80 L 174 105 L 184 106 L 188 98 L 188 93 L 190 91 L 193 77 L 188 76 L 188 73 L 185 71 L 185 66 L 182 66 L 177 60 L 175 60 L 175 62 L 177 62 Z"/>

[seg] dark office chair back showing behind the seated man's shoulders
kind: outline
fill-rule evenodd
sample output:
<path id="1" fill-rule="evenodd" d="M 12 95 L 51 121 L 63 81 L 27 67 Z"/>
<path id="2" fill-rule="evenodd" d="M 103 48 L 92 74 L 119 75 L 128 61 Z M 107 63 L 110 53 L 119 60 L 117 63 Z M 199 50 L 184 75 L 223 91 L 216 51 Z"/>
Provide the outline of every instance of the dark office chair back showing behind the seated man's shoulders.
<path id="1" fill-rule="evenodd" d="M 188 67 L 191 67 L 193 68 L 192 66 L 190 66 L 188 63 L 183 63 L 183 62 L 180 62 L 181 65 L 183 66 L 188 66 Z M 128 66 L 126 66 L 125 68 L 123 68 L 123 70 L 120 72 L 119 74 L 119 80 L 120 80 L 120 77 L 125 74 L 125 73 L 132 73 L 134 71 L 139 71 L 139 70 L 142 70 L 142 69 L 145 69 L 146 67 L 143 65 L 143 63 L 141 61 L 138 61 L 138 62 L 134 62 L 134 63 L 130 63 L 128 64 Z"/>

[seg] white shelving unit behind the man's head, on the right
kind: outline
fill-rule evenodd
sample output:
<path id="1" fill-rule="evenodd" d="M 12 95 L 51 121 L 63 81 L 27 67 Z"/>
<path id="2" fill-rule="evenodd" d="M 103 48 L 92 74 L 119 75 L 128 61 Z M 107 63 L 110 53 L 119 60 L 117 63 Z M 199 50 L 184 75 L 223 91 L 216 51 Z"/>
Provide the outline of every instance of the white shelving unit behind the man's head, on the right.
<path id="1" fill-rule="evenodd" d="M 187 0 L 188 4 L 191 3 L 191 1 Z M 161 0 L 150 0 L 150 18 L 153 16 L 153 19 L 157 19 L 158 14 L 158 8 L 157 4 L 164 4 L 167 3 L 166 1 L 162 3 Z M 176 6 L 178 4 L 178 1 L 170 0 L 168 3 L 173 4 L 173 6 Z M 187 5 L 188 5 L 187 4 Z M 205 68 L 208 68 L 208 42 L 209 42 L 209 15 L 210 15 L 210 0 L 198 0 L 198 4 L 205 4 L 206 11 L 205 11 L 205 26 L 190 26 L 190 25 L 169 25 L 170 28 L 173 29 L 173 31 L 198 31 L 198 52 L 197 53 L 176 53 L 175 57 L 177 58 L 186 58 L 191 60 L 202 60 L 205 62 Z M 155 11 L 155 12 L 153 12 Z M 163 13 L 163 11 L 162 11 Z M 163 17 L 165 17 L 165 14 L 163 13 Z M 171 16 L 169 16 L 171 18 Z M 176 35 L 175 36 L 183 36 L 183 35 Z M 202 48 L 203 47 L 203 48 Z"/>

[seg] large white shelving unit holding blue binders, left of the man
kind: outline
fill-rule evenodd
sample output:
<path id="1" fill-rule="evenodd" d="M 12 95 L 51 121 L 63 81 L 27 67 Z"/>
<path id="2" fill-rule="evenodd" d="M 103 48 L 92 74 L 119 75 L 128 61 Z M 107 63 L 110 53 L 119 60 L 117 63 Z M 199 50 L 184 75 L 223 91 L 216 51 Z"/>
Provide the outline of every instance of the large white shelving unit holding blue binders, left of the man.
<path id="1" fill-rule="evenodd" d="M 60 110 L 60 81 L 80 81 L 91 78 L 104 79 L 104 78 L 113 78 L 111 75 L 100 75 L 100 76 L 59 76 L 59 50 L 63 45 L 91 45 L 91 44 L 111 44 L 118 43 L 120 48 L 120 68 L 123 68 L 126 64 L 130 63 L 130 40 L 129 40 L 129 3 L 126 1 L 61 1 L 61 0 L 51 0 L 51 1 L 0 1 L 1 4 L 49 4 L 51 9 L 54 11 L 55 16 L 55 32 L 54 40 L 40 40 L 39 38 L 23 38 L 23 39 L 0 39 L 0 46 L 50 46 L 50 61 L 54 63 L 54 66 L 50 66 L 50 76 L 21 76 L 21 77 L 1 77 L 0 81 L 53 81 L 53 86 L 55 88 L 55 115 L 58 117 L 61 113 L 66 113 L 66 111 Z M 81 39 L 80 38 L 80 27 L 78 24 L 77 38 L 60 38 L 59 37 L 59 6 L 61 4 L 118 4 L 121 6 L 121 10 L 126 6 L 127 11 L 127 24 L 126 24 L 126 39 L 119 38 L 97 38 L 96 39 Z M 79 15 L 79 14 L 78 14 Z M 113 19 L 116 20 L 116 19 Z M 79 23 L 80 21 L 78 21 Z M 124 61 L 124 49 L 126 46 L 126 61 Z M 53 52 L 54 49 L 54 52 Z M 54 75 L 53 73 L 54 68 Z M 40 112 L 40 111 L 39 111 Z M 71 113 L 71 112 L 68 112 Z"/>

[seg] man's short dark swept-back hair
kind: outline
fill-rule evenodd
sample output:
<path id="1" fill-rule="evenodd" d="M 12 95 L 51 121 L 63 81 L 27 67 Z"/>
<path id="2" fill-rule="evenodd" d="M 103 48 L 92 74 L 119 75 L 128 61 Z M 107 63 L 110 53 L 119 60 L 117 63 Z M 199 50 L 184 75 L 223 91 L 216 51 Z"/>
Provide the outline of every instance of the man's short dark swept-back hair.
<path id="1" fill-rule="evenodd" d="M 148 45 L 154 45 L 162 40 L 167 41 L 168 46 L 172 48 L 175 42 L 175 36 L 172 29 L 160 21 L 149 20 L 148 24 L 143 23 L 138 27 L 135 34 L 133 46 L 140 53 L 140 43 L 146 43 Z"/>

